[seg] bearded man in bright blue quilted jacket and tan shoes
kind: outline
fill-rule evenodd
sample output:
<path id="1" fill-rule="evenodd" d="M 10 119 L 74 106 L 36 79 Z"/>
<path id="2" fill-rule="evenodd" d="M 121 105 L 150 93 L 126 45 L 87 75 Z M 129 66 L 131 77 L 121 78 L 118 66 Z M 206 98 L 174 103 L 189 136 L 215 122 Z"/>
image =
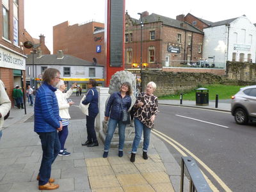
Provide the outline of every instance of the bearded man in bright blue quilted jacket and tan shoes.
<path id="1" fill-rule="evenodd" d="M 58 189 L 58 184 L 53 184 L 51 166 L 60 152 L 60 140 L 58 131 L 62 130 L 61 117 L 59 115 L 56 84 L 60 81 L 60 71 L 55 68 L 47 68 L 43 75 L 44 83 L 38 89 L 35 99 L 35 125 L 34 131 L 39 135 L 42 143 L 42 162 L 37 176 L 38 189 Z"/>

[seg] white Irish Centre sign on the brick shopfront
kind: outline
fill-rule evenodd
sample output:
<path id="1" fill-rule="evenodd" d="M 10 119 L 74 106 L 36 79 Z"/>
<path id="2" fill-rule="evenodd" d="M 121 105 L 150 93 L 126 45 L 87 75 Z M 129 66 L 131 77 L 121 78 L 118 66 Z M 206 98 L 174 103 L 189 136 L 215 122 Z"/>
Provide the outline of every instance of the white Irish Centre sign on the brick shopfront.
<path id="1" fill-rule="evenodd" d="M 0 47 L 0 67 L 26 70 L 26 58 Z"/>

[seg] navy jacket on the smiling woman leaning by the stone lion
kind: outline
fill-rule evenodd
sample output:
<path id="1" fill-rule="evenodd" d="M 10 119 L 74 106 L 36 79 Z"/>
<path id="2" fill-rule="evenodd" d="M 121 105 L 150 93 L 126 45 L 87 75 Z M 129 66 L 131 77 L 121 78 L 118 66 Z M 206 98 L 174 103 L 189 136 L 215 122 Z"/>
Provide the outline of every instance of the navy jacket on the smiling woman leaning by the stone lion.
<path id="1" fill-rule="evenodd" d="M 108 104 L 106 106 L 106 111 L 105 111 L 105 116 L 109 116 L 110 113 L 110 118 L 113 118 L 115 120 L 121 120 L 121 93 L 120 92 L 115 92 L 112 93 L 108 99 Z M 130 95 L 125 95 L 125 97 L 122 99 L 122 106 L 123 109 L 129 109 L 131 107 L 131 96 Z"/>

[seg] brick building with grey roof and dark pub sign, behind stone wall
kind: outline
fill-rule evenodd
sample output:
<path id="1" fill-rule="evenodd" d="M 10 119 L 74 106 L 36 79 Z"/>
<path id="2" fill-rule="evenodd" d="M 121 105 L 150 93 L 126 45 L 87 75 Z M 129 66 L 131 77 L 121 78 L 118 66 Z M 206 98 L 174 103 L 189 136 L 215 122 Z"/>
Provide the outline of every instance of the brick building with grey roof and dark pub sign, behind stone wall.
<path id="1" fill-rule="evenodd" d="M 182 67 L 202 58 L 204 33 L 188 22 L 141 13 L 143 68 Z M 140 68 L 141 20 L 125 14 L 125 68 Z"/>

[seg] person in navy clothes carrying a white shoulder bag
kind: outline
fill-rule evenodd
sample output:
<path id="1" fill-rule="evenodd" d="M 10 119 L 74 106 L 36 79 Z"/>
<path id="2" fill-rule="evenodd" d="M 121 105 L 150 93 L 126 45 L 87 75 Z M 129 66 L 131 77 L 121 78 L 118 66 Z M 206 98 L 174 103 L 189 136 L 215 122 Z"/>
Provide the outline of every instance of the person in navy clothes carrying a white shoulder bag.
<path id="1" fill-rule="evenodd" d="M 98 102 L 99 102 L 99 94 L 96 89 L 97 82 L 95 79 L 89 79 L 87 83 L 87 87 L 89 88 L 86 99 L 83 100 L 82 104 L 89 105 L 88 112 L 86 115 L 86 129 L 87 129 L 87 140 L 82 143 L 83 146 L 87 147 L 95 147 L 99 146 L 96 132 L 94 129 L 94 122 L 97 114 L 99 113 Z"/>

